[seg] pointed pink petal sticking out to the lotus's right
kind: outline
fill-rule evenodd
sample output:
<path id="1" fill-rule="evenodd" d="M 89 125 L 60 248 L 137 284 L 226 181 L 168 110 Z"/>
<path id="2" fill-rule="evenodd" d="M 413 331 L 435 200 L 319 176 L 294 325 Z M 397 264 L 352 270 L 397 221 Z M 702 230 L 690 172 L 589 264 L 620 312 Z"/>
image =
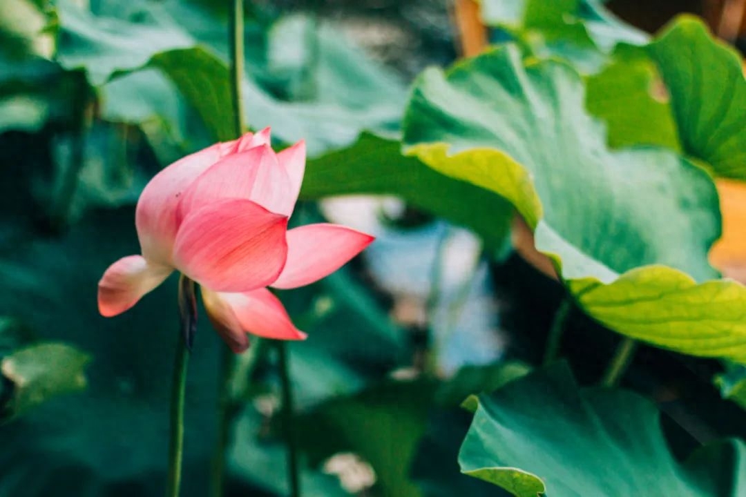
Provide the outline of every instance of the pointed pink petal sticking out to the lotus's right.
<path id="1" fill-rule="evenodd" d="M 338 224 L 308 224 L 287 232 L 287 262 L 272 286 L 308 285 L 345 265 L 374 240 Z"/>

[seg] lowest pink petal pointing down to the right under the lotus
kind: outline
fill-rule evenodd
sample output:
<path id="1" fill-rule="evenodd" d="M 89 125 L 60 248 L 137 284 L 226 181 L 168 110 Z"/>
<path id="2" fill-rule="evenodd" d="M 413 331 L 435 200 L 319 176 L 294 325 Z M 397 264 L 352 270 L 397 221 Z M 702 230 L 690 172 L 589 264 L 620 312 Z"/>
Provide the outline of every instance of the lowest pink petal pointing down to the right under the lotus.
<path id="1" fill-rule="evenodd" d="M 266 288 L 239 294 L 220 293 L 223 302 L 245 332 L 278 340 L 304 340 L 306 334 L 295 328 L 278 297 Z"/>

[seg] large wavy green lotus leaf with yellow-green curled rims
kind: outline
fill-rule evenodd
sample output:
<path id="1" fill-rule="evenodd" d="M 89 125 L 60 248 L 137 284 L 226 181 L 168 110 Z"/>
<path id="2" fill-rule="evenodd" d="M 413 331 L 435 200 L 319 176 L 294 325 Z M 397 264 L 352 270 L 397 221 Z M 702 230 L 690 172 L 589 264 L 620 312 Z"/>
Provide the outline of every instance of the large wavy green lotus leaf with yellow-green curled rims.
<path id="1" fill-rule="evenodd" d="M 705 282 L 717 276 L 706 255 L 720 233 L 712 180 L 670 151 L 610 151 L 583 102 L 568 66 L 524 66 L 515 48 L 498 48 L 420 77 L 405 142 L 436 171 L 510 200 L 596 320 L 746 361 L 746 289 Z"/>

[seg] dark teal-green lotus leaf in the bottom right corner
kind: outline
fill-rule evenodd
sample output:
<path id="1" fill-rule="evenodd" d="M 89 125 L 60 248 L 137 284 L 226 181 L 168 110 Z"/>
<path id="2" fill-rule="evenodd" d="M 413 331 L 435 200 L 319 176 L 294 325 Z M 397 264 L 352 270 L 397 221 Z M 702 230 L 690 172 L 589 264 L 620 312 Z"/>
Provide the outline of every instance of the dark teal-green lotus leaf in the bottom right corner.
<path id="1" fill-rule="evenodd" d="M 518 497 L 746 493 L 741 440 L 713 443 L 682 464 L 658 417 L 636 393 L 580 389 L 560 363 L 479 397 L 461 469 Z"/>

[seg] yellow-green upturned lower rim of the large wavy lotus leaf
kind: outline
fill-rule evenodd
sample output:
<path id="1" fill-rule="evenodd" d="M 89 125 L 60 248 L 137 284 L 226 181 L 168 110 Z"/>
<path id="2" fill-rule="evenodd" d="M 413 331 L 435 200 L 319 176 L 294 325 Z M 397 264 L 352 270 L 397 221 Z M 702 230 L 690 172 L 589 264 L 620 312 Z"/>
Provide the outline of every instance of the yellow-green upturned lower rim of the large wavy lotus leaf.
<path id="1" fill-rule="evenodd" d="M 631 270 L 612 285 L 586 279 L 570 288 L 588 314 L 624 335 L 746 364 L 746 288 L 738 282 L 698 285 L 684 273 L 653 266 Z"/>

